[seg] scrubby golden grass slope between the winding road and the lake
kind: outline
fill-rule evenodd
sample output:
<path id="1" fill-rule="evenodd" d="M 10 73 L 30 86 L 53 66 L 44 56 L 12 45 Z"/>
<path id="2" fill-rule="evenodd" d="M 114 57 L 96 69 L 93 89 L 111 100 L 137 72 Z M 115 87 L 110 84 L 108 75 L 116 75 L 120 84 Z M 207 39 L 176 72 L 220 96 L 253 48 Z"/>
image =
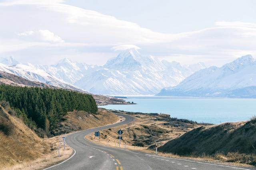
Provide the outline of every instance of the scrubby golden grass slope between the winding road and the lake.
<path id="1" fill-rule="evenodd" d="M 123 112 L 125 113 L 125 112 Z M 154 143 L 163 145 L 170 139 L 175 139 L 187 131 L 198 127 L 197 124 L 185 124 L 186 126 L 172 126 L 164 125 L 169 123 L 166 119 L 159 119 L 160 116 L 147 115 L 147 114 L 129 114 L 135 118 L 135 121 L 127 125 L 112 127 L 101 131 L 101 138 L 109 140 L 111 143 L 118 143 L 117 131 L 122 129 L 122 143 L 126 145 L 136 145 L 148 147 Z M 148 136 L 152 136 L 148 141 Z"/>

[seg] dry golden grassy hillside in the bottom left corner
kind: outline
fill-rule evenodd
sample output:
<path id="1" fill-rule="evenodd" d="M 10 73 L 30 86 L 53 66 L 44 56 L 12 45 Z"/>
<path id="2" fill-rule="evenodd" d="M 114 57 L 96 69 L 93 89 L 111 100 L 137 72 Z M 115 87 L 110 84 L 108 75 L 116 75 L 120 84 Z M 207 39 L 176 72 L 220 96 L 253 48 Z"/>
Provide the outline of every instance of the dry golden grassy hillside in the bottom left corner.
<path id="1" fill-rule="evenodd" d="M 50 152 L 30 128 L 0 106 L 0 169 L 33 160 Z"/>

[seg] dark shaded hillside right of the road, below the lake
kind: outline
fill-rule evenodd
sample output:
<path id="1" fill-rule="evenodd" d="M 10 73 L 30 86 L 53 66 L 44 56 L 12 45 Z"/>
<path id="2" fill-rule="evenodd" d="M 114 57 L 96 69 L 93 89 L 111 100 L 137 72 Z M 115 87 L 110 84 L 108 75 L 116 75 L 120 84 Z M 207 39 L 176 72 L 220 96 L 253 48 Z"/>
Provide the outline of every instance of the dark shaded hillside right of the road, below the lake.
<path id="1" fill-rule="evenodd" d="M 184 156 L 206 154 L 230 162 L 255 164 L 256 119 L 198 127 L 169 141 L 159 150 Z"/>

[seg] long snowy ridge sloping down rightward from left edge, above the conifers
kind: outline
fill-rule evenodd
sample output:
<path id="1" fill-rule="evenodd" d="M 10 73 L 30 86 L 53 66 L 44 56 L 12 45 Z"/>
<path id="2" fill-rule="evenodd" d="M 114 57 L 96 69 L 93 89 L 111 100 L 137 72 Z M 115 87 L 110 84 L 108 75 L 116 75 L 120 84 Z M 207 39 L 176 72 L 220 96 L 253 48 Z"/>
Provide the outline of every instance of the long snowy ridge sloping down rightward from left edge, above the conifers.
<path id="1" fill-rule="evenodd" d="M 64 82 L 56 78 L 55 76 L 52 76 L 48 72 L 40 68 L 37 68 L 32 64 L 6 65 L 6 64 L 0 63 L 0 71 L 14 74 L 16 76 L 20 76 L 22 78 L 25 78 L 33 82 L 42 82 L 55 87 L 84 91 L 72 84 L 69 84 L 67 82 Z"/>

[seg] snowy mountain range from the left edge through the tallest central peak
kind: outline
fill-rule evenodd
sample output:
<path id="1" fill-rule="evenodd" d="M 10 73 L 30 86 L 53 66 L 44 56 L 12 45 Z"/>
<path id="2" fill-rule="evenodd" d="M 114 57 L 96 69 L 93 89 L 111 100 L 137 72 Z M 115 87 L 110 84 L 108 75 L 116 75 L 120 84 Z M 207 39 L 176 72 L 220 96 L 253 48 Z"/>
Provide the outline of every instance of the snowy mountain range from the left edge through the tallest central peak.
<path id="1" fill-rule="evenodd" d="M 50 86 L 85 90 L 93 94 L 148 95 L 176 86 L 194 72 L 206 68 L 203 63 L 181 65 L 141 55 L 129 48 L 103 66 L 62 59 L 57 64 L 21 64 L 13 57 L 0 60 L 0 71 Z"/>

